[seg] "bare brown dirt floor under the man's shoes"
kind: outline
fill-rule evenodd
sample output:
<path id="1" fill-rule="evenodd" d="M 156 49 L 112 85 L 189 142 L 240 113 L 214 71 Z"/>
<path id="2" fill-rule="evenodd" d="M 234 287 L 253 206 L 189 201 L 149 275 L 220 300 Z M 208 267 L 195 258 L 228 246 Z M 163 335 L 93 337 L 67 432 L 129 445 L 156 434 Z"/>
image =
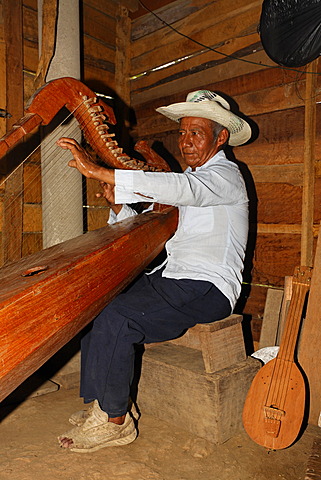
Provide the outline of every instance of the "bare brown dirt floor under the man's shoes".
<path id="1" fill-rule="evenodd" d="M 68 415 L 80 408 L 77 389 L 2 407 L 0 479 L 300 480 L 306 476 L 312 443 L 321 436 L 320 428 L 308 427 L 292 447 L 269 452 L 245 432 L 213 445 L 142 414 L 134 443 L 72 453 L 61 449 L 56 438 L 69 429 Z"/>

